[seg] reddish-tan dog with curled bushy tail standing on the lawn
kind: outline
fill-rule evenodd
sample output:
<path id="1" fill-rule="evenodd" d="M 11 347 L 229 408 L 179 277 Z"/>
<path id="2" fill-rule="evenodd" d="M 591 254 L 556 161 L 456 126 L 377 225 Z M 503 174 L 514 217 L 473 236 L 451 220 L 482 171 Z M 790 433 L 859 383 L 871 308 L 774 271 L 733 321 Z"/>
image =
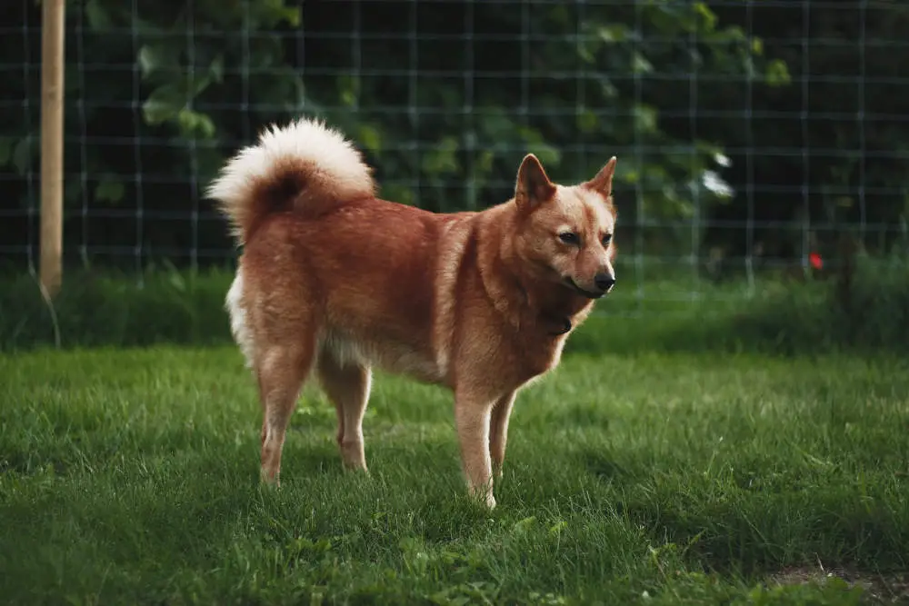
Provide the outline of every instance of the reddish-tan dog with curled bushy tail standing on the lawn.
<path id="1" fill-rule="evenodd" d="M 615 163 L 563 185 L 527 154 L 512 199 L 440 214 L 378 198 L 363 155 L 321 120 L 272 124 L 230 158 L 206 195 L 243 247 L 225 306 L 258 381 L 263 482 L 280 483 L 312 373 L 342 462 L 366 471 L 378 368 L 454 393 L 467 492 L 494 507 L 515 395 L 614 287 Z"/>

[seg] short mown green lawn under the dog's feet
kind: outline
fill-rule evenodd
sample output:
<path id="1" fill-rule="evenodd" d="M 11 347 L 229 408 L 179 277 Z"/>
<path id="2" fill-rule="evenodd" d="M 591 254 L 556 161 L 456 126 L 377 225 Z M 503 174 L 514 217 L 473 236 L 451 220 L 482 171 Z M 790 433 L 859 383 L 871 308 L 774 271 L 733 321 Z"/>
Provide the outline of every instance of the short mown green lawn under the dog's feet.
<path id="1" fill-rule="evenodd" d="M 371 477 L 342 471 L 335 412 L 311 388 L 278 491 L 258 484 L 259 405 L 234 348 L 7 355 L 0 405 L 9 603 L 906 591 L 909 363 L 895 360 L 568 356 L 519 398 L 491 513 L 464 498 L 449 395 L 387 376 L 365 421 Z"/>

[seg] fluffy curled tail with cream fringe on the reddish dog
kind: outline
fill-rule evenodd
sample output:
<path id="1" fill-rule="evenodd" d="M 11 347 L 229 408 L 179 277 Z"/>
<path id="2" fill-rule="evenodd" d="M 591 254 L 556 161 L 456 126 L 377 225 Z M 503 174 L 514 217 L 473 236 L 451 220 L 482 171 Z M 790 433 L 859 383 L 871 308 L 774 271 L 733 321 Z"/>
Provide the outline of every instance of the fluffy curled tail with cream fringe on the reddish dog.
<path id="1" fill-rule="evenodd" d="M 343 134 L 315 119 L 272 125 L 231 158 L 209 185 L 238 243 L 268 214 L 320 214 L 375 195 L 372 170 Z"/>

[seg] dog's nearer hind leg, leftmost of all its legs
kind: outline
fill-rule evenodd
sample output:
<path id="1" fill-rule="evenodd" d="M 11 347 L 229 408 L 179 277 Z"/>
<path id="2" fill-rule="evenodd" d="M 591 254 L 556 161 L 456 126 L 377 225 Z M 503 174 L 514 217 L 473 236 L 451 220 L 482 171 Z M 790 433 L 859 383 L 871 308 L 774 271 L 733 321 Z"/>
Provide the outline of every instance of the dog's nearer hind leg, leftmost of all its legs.
<path id="1" fill-rule="evenodd" d="M 262 480 L 279 483 L 287 424 L 313 366 L 313 343 L 273 345 L 256 364 L 262 399 Z"/>

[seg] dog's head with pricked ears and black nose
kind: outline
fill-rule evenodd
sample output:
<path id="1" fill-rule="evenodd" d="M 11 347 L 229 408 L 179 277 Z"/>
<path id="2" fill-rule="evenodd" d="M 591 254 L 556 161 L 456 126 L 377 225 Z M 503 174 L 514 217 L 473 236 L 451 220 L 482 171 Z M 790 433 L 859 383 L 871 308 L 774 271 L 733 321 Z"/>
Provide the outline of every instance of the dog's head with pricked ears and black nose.
<path id="1" fill-rule="evenodd" d="M 598 299 L 615 283 L 615 209 L 612 158 L 583 184 L 554 184 L 543 164 L 528 154 L 517 173 L 515 251 L 544 280 Z"/>

